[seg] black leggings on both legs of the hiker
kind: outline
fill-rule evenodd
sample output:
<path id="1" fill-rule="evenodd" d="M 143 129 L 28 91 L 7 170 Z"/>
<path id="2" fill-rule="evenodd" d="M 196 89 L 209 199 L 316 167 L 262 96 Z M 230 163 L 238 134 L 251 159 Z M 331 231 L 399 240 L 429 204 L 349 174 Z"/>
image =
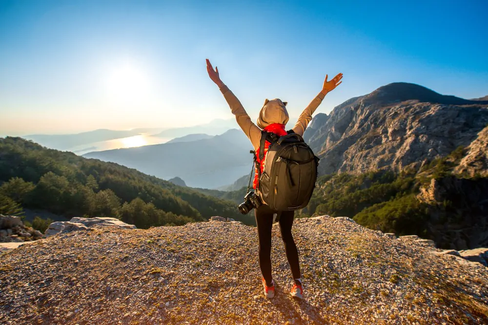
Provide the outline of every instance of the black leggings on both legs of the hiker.
<path id="1" fill-rule="evenodd" d="M 280 215 L 280 230 L 283 243 L 285 244 L 286 258 L 291 268 L 293 279 L 301 278 L 300 263 L 298 261 L 298 250 L 291 234 L 293 216 L 295 211 L 278 212 L 269 209 L 269 206 L 262 205 L 254 210 L 256 224 L 258 226 L 259 239 L 259 267 L 267 284 L 271 283 L 271 227 L 273 226 L 273 214 Z"/>

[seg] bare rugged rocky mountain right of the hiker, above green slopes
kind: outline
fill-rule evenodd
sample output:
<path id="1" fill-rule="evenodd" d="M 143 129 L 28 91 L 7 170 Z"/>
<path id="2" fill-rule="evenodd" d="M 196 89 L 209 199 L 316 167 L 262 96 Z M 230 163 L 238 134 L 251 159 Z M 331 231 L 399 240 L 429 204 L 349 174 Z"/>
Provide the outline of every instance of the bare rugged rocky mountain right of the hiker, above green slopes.
<path id="1" fill-rule="evenodd" d="M 321 174 L 401 170 L 468 146 L 488 124 L 488 101 L 398 82 L 314 120 L 304 136 L 321 158 Z"/>

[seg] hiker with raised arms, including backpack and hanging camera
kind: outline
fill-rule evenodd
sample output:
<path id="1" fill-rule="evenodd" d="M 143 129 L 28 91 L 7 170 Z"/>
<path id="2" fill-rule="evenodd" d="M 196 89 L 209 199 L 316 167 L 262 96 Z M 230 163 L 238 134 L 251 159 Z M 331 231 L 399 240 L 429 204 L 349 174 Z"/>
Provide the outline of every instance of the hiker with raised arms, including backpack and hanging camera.
<path id="1" fill-rule="evenodd" d="M 295 210 L 305 208 L 310 200 L 317 179 L 319 158 L 305 144 L 302 135 L 312 120 L 312 114 L 325 95 L 342 82 L 343 75 L 338 74 L 330 81 L 325 76 L 322 91 L 308 104 L 295 126 L 286 131 L 287 102 L 278 98 L 266 99 L 257 123 L 254 124 L 239 99 L 220 79 L 217 67 L 214 70 L 208 59 L 206 63 L 208 76 L 219 86 L 237 123 L 254 147 L 254 191 L 248 191 L 239 210 L 245 214 L 254 209 L 264 295 L 267 298 L 275 295 L 275 283 L 271 275 L 271 229 L 275 219 L 280 225 L 286 258 L 294 279 L 290 294 L 294 298 L 303 299 L 298 250 L 291 228 Z"/>

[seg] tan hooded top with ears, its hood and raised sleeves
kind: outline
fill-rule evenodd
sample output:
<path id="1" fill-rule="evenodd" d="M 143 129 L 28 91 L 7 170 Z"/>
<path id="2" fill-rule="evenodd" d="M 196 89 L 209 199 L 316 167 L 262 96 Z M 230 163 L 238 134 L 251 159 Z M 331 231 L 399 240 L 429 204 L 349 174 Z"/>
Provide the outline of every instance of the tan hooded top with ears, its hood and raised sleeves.
<path id="1" fill-rule="evenodd" d="M 257 125 L 251 121 L 249 115 L 247 115 L 244 110 L 243 105 L 237 99 L 237 97 L 229 90 L 229 88 L 223 85 L 220 91 L 225 97 L 225 100 L 230 106 L 232 114 L 236 116 L 237 124 L 244 131 L 245 135 L 249 138 L 254 147 L 254 150 L 259 148 L 259 143 L 261 140 L 261 130 L 264 129 L 269 124 L 281 123 L 286 124 L 288 122 L 288 112 L 286 111 L 286 102 L 282 102 L 280 99 L 265 100 L 264 106 L 259 112 L 259 117 L 257 120 Z M 317 107 L 324 99 L 324 94 L 319 93 L 305 110 L 302 112 L 298 118 L 297 124 L 292 128 L 293 132 L 296 134 L 303 135 L 305 129 L 312 120 L 312 114 L 315 112 Z"/>

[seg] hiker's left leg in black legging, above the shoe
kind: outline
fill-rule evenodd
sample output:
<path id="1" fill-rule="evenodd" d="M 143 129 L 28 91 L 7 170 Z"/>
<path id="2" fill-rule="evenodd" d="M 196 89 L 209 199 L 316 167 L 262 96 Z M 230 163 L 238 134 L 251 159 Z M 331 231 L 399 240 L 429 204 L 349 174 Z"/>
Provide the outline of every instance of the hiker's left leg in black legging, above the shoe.
<path id="1" fill-rule="evenodd" d="M 267 286 L 271 286 L 271 228 L 273 211 L 267 205 L 254 210 L 259 239 L 259 267 Z"/>

